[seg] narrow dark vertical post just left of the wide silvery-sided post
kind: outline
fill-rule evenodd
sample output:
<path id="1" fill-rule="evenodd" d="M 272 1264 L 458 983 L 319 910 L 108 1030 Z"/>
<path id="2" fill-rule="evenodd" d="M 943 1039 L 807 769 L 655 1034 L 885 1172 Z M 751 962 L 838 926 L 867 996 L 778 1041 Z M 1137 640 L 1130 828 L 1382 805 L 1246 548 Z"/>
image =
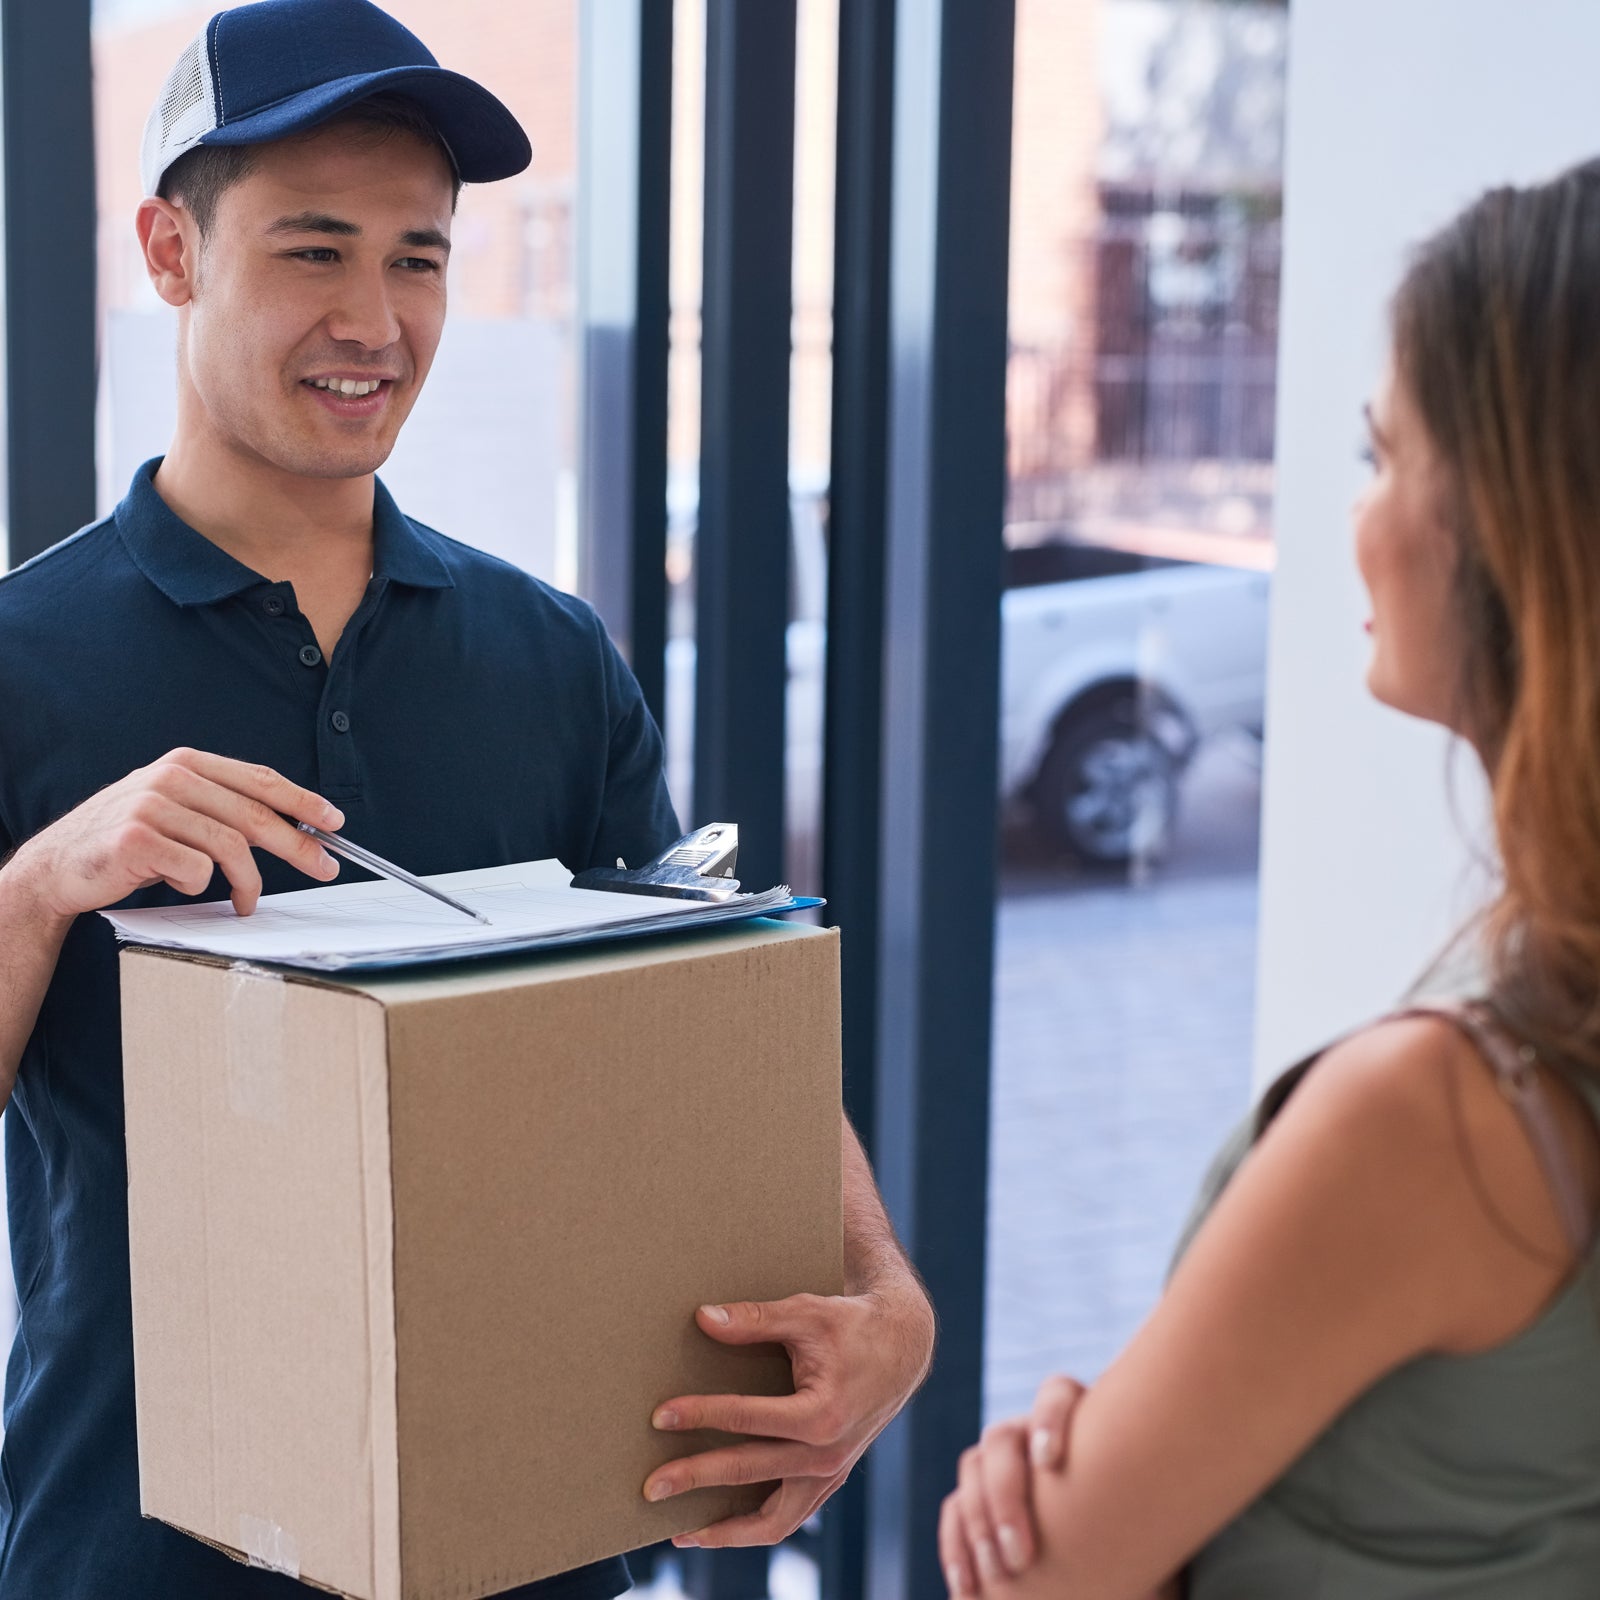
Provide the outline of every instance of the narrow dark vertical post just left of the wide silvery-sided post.
<path id="1" fill-rule="evenodd" d="M 840 0 L 834 189 L 822 893 L 843 928 L 845 1110 L 870 1152 L 877 1094 L 878 832 L 894 0 Z M 866 1594 L 872 1461 L 822 1514 L 822 1597 Z"/>

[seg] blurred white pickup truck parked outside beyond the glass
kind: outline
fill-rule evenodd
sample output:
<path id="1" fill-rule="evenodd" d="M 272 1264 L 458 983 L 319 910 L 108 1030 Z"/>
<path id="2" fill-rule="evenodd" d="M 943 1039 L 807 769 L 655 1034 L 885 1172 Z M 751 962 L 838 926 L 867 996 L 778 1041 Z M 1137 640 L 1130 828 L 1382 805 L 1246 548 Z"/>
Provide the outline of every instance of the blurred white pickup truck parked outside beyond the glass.
<path id="1" fill-rule="evenodd" d="M 826 554 L 814 502 L 792 499 L 787 806 L 810 861 L 822 760 Z M 1000 797 L 1090 866 L 1160 858 L 1184 770 L 1224 730 L 1259 738 L 1266 573 L 1056 542 L 1006 552 Z M 893 707 L 890 709 L 893 715 Z M 688 798 L 694 642 L 667 646 L 667 776 Z"/>

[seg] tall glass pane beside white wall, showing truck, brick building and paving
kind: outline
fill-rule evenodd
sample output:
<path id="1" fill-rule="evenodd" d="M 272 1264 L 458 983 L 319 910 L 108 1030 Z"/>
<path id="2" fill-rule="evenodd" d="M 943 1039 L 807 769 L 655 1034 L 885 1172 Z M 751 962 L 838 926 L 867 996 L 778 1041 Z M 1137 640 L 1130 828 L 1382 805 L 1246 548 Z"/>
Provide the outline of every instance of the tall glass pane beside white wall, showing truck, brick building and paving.
<path id="1" fill-rule="evenodd" d="M 1285 34 L 1018 5 L 992 1414 L 1115 1354 L 1248 1094 Z"/>

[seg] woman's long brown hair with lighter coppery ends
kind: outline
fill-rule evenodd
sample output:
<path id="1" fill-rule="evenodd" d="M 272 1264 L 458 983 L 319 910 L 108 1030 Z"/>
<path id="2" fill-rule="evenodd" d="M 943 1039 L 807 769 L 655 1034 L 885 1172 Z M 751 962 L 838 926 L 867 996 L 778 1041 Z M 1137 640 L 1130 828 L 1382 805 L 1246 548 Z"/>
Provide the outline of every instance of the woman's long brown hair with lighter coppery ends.
<path id="1" fill-rule="evenodd" d="M 1418 251 L 1394 334 L 1459 538 L 1458 726 L 1504 870 L 1491 998 L 1600 1077 L 1600 162 L 1469 206 Z"/>

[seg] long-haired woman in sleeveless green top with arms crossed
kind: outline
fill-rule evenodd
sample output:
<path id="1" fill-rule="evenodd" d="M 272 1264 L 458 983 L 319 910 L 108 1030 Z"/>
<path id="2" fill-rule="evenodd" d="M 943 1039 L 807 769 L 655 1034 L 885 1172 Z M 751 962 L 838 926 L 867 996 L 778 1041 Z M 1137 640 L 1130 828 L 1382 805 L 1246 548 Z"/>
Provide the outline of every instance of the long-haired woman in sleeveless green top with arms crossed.
<path id="1" fill-rule="evenodd" d="M 1066 1469 L 966 1453 L 957 1594 L 1600 1594 L 1600 162 L 1419 251 L 1368 424 L 1368 686 L 1482 758 L 1499 894 L 1224 1147 Z"/>

